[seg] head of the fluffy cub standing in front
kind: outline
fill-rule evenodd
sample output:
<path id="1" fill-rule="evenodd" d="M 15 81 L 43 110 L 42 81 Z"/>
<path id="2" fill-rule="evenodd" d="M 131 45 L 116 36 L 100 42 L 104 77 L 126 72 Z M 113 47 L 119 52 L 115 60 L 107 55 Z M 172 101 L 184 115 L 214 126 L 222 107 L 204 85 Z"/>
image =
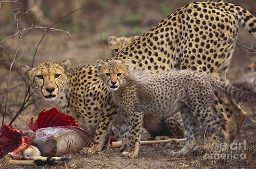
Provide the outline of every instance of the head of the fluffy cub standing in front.
<path id="1" fill-rule="evenodd" d="M 129 76 L 129 66 L 129 59 L 96 61 L 99 76 L 110 90 L 117 90 L 126 82 L 126 78 Z"/>

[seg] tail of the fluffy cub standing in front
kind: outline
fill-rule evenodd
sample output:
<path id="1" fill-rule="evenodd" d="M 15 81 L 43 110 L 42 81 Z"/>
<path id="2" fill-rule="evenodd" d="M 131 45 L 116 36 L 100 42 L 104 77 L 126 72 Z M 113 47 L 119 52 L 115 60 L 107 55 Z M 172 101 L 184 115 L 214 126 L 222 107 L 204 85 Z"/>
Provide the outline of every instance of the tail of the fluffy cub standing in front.
<path id="1" fill-rule="evenodd" d="M 227 85 L 225 82 L 218 81 L 212 82 L 214 88 L 220 90 L 225 93 L 227 96 L 230 96 L 233 100 L 237 102 L 247 103 L 247 104 L 256 104 L 256 93 L 248 92 L 245 90 L 241 90 L 233 87 L 232 85 Z"/>

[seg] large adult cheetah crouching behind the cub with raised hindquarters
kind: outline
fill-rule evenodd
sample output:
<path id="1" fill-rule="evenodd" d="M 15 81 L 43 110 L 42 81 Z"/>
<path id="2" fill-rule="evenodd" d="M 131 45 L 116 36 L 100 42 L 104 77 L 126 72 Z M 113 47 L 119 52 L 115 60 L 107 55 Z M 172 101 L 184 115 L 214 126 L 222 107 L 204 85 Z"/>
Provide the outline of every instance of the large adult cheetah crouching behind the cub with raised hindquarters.
<path id="1" fill-rule="evenodd" d="M 241 6 L 226 2 L 195 2 L 183 6 L 138 39 L 118 52 L 112 59 L 129 58 L 138 69 L 156 73 L 192 69 L 225 80 L 226 71 L 238 35 L 238 22 L 256 37 L 255 17 Z M 70 62 L 45 62 L 35 68 L 23 67 L 29 84 L 46 101 L 55 100 L 63 112 L 74 117 L 95 135 L 94 150 L 104 150 L 117 107 L 110 91 L 100 80 L 95 65 L 69 69 Z M 221 96 L 221 94 L 220 94 Z M 246 112 L 223 95 L 217 110 L 227 118 L 230 141 L 237 136 Z M 158 119 L 144 118 L 161 131 Z M 163 121 L 163 119 L 160 119 Z M 156 129 L 156 130 L 154 130 Z"/>

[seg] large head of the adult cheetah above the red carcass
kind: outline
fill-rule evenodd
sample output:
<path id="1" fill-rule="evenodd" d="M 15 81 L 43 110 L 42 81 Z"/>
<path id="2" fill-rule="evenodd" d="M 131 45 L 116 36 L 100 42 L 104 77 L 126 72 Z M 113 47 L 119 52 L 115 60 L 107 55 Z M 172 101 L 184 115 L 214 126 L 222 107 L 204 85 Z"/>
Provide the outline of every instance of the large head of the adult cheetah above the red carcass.
<path id="1" fill-rule="evenodd" d="M 67 81 L 65 71 L 68 70 L 69 66 L 70 61 L 63 59 L 59 64 L 44 62 L 33 68 L 26 65 L 22 67 L 22 72 L 37 94 L 46 101 L 53 101 L 59 93 L 65 92 Z"/>

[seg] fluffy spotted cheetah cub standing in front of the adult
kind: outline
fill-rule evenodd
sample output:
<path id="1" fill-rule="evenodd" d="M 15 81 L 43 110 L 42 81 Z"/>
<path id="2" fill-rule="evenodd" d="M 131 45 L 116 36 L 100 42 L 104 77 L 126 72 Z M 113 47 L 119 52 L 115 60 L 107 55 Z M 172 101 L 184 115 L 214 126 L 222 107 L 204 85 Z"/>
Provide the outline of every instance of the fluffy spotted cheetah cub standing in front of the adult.
<path id="1" fill-rule="evenodd" d="M 128 117 L 130 131 L 127 135 L 131 139 L 126 137 L 122 148 L 129 145 L 128 151 L 123 152 L 129 158 L 138 155 L 144 116 L 166 118 L 181 112 L 187 142 L 179 152 L 171 154 L 182 157 L 196 146 L 199 125 L 207 125 L 217 133 L 220 143 L 229 143 L 225 133 L 227 119 L 214 107 L 218 104 L 214 91 L 221 91 L 238 102 L 256 102 L 255 93 L 246 93 L 204 73 L 183 70 L 150 74 L 130 68 L 129 59 L 97 60 L 96 67 L 111 90 L 113 102 Z"/>

